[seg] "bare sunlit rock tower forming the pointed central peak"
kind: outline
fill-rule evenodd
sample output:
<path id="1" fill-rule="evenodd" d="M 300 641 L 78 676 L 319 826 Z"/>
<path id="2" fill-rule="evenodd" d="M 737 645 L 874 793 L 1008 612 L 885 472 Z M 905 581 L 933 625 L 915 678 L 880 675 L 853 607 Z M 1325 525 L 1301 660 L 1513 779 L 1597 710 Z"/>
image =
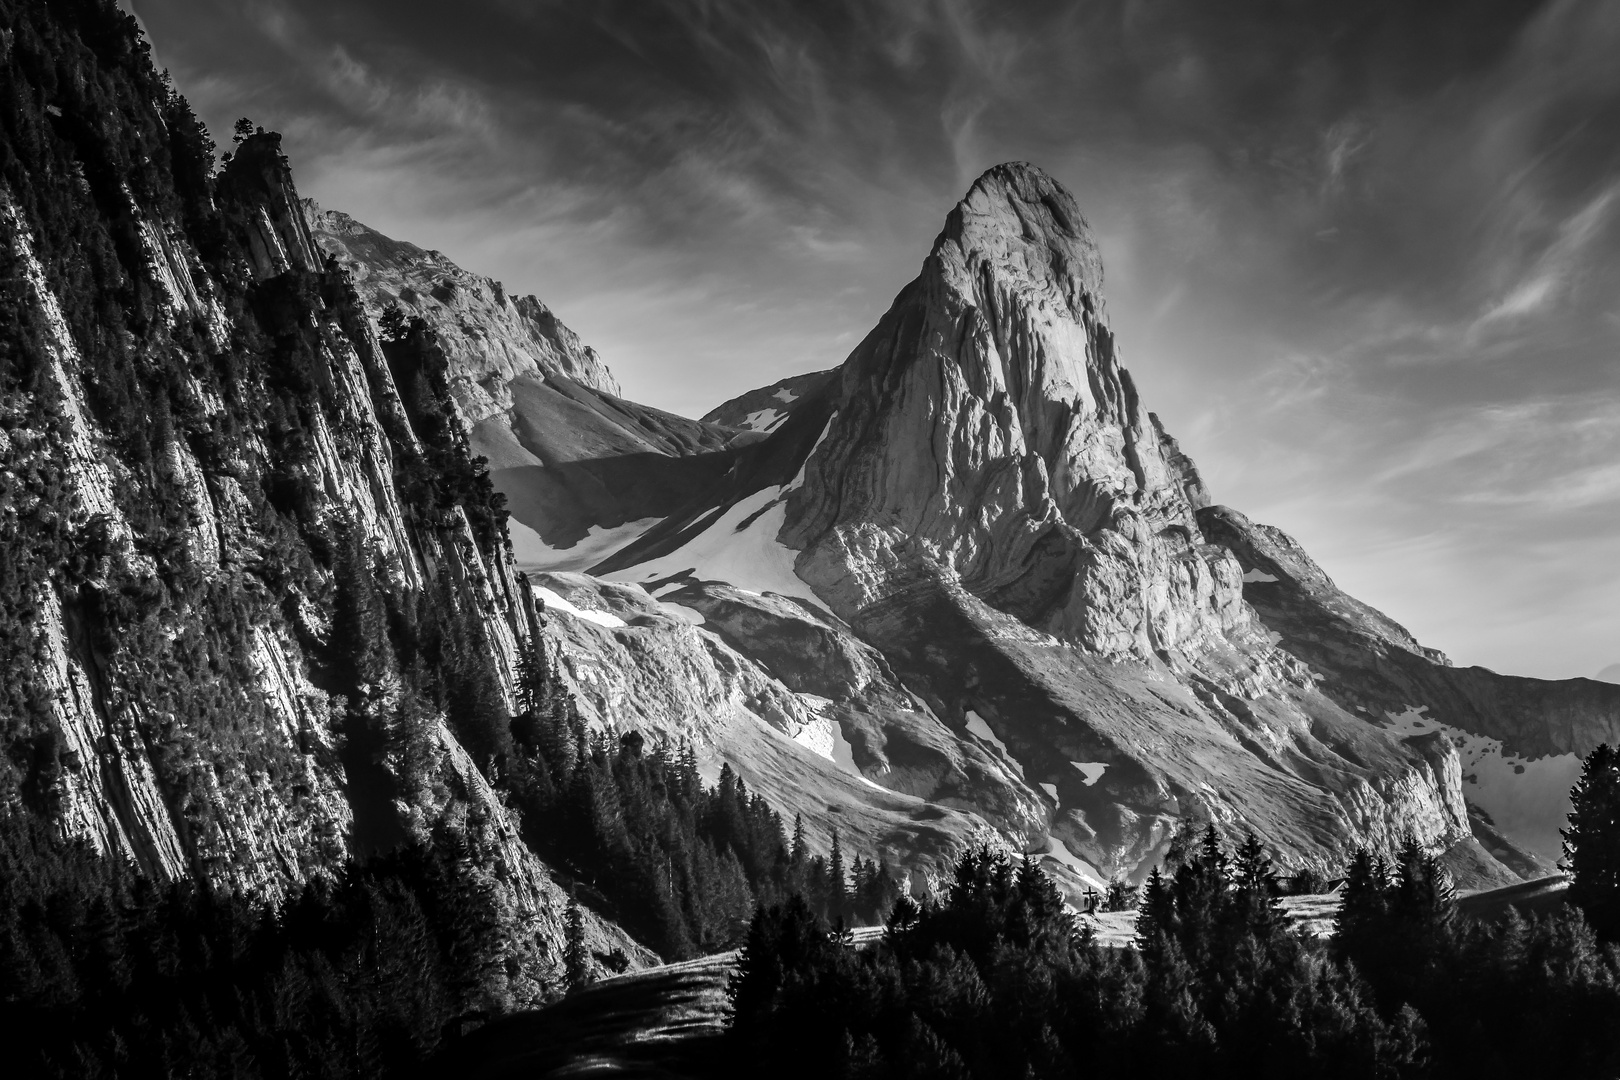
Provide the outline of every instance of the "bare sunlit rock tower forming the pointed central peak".
<path id="1" fill-rule="evenodd" d="M 923 559 L 1105 656 L 1241 628 L 1241 572 L 1204 544 L 1184 455 L 1119 368 L 1074 199 L 1003 165 L 951 212 L 922 275 L 846 361 L 838 418 L 782 541 L 841 612 L 863 563 Z"/>

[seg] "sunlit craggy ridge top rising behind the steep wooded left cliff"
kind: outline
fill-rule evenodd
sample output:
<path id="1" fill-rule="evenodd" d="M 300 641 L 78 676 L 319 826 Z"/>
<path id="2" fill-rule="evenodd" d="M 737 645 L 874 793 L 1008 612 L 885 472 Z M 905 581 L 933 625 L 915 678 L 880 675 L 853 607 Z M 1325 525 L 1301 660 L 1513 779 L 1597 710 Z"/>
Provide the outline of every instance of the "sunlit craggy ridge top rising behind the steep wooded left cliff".
<path id="1" fill-rule="evenodd" d="M 348 269 L 360 295 L 381 313 L 389 304 L 433 325 L 457 358 L 452 390 L 470 423 L 512 410 L 514 379 L 561 374 L 593 390 L 619 384 L 588 345 L 535 296 L 512 296 L 494 279 L 468 274 L 437 251 L 390 240 L 348 214 L 305 199 L 300 217 L 313 243 Z"/>

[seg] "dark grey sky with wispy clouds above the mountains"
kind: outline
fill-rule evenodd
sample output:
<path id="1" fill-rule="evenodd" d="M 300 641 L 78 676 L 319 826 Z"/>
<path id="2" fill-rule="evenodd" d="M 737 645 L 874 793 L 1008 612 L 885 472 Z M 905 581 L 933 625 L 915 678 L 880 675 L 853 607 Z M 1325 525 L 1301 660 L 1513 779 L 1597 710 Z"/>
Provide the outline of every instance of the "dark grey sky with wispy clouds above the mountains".
<path id="1" fill-rule="evenodd" d="M 130 2 L 220 142 L 693 416 L 1034 162 L 1218 502 L 1460 665 L 1620 662 L 1620 3 Z"/>

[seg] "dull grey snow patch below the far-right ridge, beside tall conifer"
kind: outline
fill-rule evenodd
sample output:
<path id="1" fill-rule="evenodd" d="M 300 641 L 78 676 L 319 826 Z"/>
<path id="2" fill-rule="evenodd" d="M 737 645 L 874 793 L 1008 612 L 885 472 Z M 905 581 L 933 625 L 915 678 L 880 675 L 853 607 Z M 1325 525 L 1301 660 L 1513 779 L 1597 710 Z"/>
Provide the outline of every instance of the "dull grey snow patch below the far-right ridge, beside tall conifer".
<path id="1" fill-rule="evenodd" d="M 1463 759 L 1463 795 L 1487 814 L 1515 844 L 1549 861 L 1563 858 L 1558 836 L 1570 816 L 1570 789 L 1581 777 L 1578 755 L 1520 758 L 1502 751 L 1502 742 L 1473 735 L 1424 716 L 1429 706 L 1385 712 L 1400 735 L 1442 732 Z"/>

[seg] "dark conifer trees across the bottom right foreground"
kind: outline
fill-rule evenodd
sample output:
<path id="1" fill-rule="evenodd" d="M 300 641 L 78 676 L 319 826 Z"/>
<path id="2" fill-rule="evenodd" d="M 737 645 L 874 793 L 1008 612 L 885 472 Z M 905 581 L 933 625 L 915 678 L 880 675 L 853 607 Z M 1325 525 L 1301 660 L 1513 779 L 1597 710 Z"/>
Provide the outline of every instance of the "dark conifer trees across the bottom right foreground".
<path id="1" fill-rule="evenodd" d="M 1098 947 L 1047 874 L 967 853 L 854 949 L 799 899 L 761 908 L 732 986 L 737 1075 L 991 1078 L 1614 1077 L 1620 758 L 1573 792 L 1570 904 L 1473 920 L 1434 855 L 1358 852 L 1328 939 L 1290 925 L 1264 844 L 1209 826 Z"/>

